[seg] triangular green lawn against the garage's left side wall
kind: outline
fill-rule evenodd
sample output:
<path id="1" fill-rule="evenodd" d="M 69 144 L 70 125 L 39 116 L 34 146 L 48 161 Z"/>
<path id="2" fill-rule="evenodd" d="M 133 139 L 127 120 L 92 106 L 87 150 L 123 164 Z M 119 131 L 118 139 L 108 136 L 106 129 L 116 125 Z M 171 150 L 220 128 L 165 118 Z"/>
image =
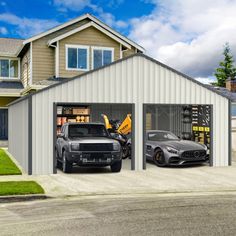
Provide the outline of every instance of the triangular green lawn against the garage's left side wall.
<path id="1" fill-rule="evenodd" d="M 0 175 L 21 175 L 20 169 L 3 149 L 0 149 Z"/>

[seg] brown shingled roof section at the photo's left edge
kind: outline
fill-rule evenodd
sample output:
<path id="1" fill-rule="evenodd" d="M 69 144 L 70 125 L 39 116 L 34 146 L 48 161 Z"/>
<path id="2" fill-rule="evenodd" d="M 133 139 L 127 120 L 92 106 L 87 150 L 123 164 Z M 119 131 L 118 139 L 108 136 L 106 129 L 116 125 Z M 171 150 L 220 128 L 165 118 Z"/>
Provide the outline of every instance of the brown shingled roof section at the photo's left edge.
<path id="1" fill-rule="evenodd" d="M 23 48 L 22 39 L 0 38 L 0 56 L 16 57 Z"/>

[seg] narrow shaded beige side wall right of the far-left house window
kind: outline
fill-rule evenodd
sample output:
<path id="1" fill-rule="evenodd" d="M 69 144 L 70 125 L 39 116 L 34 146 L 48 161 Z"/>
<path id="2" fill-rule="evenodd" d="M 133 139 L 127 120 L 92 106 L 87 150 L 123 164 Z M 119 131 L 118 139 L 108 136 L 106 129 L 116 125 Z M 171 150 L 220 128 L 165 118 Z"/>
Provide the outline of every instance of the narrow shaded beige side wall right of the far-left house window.
<path id="1" fill-rule="evenodd" d="M 21 81 L 24 88 L 29 84 L 30 80 L 30 48 L 26 51 L 21 59 Z"/>

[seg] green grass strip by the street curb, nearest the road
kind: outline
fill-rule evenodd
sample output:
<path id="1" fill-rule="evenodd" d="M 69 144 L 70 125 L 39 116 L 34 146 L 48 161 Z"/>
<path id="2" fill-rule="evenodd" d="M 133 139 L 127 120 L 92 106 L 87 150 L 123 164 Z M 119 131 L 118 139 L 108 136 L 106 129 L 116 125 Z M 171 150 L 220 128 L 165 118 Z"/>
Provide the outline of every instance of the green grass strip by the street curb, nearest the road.
<path id="1" fill-rule="evenodd" d="M 35 181 L 0 182 L 0 196 L 43 193 L 43 188 Z"/>

